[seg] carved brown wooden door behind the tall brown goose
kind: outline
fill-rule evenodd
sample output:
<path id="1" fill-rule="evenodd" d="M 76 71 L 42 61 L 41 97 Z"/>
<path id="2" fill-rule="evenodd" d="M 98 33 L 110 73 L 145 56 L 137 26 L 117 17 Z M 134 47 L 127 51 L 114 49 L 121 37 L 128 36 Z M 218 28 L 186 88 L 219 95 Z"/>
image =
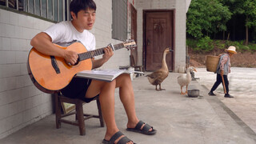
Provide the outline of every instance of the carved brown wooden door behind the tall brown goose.
<path id="1" fill-rule="evenodd" d="M 144 62 L 146 71 L 162 67 L 166 47 L 174 50 L 174 10 L 144 11 Z M 168 69 L 174 69 L 174 52 L 166 55 Z"/>

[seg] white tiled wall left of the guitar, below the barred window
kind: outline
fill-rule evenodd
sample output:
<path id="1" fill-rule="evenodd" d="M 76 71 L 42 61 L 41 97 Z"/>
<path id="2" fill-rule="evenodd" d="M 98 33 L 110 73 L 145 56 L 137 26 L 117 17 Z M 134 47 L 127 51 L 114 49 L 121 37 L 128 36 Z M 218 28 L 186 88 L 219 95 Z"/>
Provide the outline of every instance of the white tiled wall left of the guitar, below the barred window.
<path id="1" fill-rule="evenodd" d="M 30 39 L 50 25 L 0 10 L 0 138 L 52 114 L 50 95 L 34 87 L 26 70 Z"/>

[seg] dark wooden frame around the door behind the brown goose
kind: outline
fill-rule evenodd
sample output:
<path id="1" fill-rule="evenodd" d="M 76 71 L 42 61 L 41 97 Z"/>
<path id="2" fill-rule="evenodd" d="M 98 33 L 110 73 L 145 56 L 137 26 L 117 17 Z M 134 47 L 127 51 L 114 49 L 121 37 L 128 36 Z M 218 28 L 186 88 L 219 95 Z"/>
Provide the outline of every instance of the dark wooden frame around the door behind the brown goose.
<path id="1" fill-rule="evenodd" d="M 174 70 L 175 68 L 175 53 L 176 53 L 176 49 L 175 49 L 175 9 L 171 9 L 171 10 L 143 10 L 143 47 L 142 47 L 142 63 L 143 66 L 145 66 L 145 70 L 146 70 L 146 14 L 150 13 L 150 12 L 173 12 L 173 19 L 171 19 L 174 23 L 173 27 L 172 27 L 172 33 L 173 33 L 173 37 L 172 37 L 172 41 L 173 41 L 173 50 L 174 50 L 174 58 L 173 58 L 173 64 L 172 64 L 172 70 Z"/>

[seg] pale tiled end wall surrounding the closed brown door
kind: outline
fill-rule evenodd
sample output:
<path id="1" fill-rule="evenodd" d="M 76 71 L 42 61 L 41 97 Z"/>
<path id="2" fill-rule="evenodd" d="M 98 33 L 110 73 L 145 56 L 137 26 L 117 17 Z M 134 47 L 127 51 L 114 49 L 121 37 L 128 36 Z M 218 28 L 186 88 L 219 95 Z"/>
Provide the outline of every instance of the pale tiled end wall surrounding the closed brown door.
<path id="1" fill-rule="evenodd" d="M 186 65 L 186 1 L 185 0 L 136 0 L 138 23 L 138 63 L 142 65 L 143 50 L 143 10 L 175 10 L 175 67 Z"/>

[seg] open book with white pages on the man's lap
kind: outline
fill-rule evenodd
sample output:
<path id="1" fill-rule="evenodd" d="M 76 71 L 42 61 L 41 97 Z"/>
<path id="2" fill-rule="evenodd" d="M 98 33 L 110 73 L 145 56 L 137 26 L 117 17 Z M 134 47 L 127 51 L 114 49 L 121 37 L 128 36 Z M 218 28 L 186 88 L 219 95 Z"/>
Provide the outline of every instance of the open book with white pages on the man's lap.
<path id="1" fill-rule="evenodd" d="M 90 79 L 97 79 L 102 81 L 111 82 L 114 78 L 117 78 L 120 74 L 144 74 L 141 71 L 134 71 L 134 70 L 83 70 L 76 74 L 76 77 L 79 78 L 90 78 Z"/>

